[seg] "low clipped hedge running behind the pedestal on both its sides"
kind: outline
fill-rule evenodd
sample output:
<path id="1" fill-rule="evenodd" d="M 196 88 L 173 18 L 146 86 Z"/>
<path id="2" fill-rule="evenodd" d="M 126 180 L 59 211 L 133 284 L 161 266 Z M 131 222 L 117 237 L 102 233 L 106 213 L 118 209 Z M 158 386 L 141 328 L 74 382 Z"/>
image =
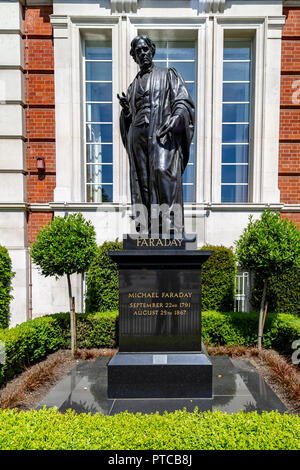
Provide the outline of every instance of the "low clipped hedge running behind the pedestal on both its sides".
<path id="1" fill-rule="evenodd" d="M 118 343 L 118 312 L 77 314 L 79 348 L 114 348 Z M 60 313 L 0 330 L 5 343 L 6 363 L 0 364 L 0 384 L 25 367 L 58 349 L 70 348 L 69 314 Z M 202 338 L 212 346 L 257 343 L 258 313 L 202 313 Z M 268 314 L 263 345 L 291 354 L 294 340 L 300 339 L 300 318 L 288 314 Z"/>

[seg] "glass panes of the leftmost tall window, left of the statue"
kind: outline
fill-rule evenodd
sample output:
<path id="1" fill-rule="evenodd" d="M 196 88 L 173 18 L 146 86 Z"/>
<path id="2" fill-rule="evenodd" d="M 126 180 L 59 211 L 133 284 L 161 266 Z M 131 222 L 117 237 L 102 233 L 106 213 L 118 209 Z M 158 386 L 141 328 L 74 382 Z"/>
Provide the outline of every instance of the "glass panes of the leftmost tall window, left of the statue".
<path id="1" fill-rule="evenodd" d="M 86 200 L 113 200 L 112 43 L 85 41 Z"/>

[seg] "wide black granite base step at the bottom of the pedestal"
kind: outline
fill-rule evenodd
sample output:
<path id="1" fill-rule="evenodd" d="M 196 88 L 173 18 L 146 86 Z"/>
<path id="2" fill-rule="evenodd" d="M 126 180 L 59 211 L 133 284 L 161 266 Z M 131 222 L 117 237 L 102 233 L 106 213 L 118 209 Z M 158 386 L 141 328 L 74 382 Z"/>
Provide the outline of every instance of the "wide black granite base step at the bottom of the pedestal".
<path id="1" fill-rule="evenodd" d="M 108 364 L 108 398 L 212 399 L 212 364 L 203 353 L 118 353 Z"/>

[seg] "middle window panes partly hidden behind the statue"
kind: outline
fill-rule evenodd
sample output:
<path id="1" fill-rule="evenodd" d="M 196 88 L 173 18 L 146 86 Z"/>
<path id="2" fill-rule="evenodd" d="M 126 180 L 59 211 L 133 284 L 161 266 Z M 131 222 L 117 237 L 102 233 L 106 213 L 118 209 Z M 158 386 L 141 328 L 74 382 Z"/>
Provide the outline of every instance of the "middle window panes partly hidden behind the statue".
<path id="1" fill-rule="evenodd" d="M 196 105 L 196 42 L 155 41 L 154 62 L 163 67 L 174 67 L 182 75 Z M 190 147 L 190 158 L 183 174 L 184 202 L 195 201 L 195 140 Z"/>

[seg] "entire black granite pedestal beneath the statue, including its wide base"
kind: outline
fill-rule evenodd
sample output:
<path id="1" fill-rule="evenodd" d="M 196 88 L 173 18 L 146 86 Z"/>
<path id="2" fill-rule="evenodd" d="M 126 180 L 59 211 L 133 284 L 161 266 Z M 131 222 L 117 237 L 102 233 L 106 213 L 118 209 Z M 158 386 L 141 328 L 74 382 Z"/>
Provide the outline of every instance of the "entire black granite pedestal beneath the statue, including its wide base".
<path id="1" fill-rule="evenodd" d="M 201 266 L 212 252 L 171 242 L 109 252 L 120 295 L 109 398 L 212 398 L 212 365 L 201 350 Z"/>

